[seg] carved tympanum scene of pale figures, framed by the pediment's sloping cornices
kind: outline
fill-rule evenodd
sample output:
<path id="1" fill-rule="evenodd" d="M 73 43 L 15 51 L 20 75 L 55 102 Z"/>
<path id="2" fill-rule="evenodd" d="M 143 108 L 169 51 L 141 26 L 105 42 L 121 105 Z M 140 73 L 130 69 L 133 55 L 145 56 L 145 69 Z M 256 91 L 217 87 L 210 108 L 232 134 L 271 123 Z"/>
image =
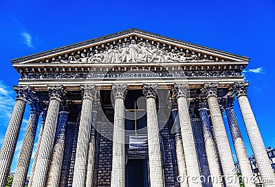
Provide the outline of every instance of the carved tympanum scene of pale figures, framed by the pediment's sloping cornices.
<path id="1" fill-rule="evenodd" d="M 126 38 L 125 38 L 126 39 Z M 127 40 L 127 39 L 126 39 Z M 158 44 L 157 44 L 158 43 Z M 171 47 L 170 47 L 171 48 Z M 72 52 L 59 56 L 59 63 L 157 63 L 157 62 L 214 62 L 219 58 L 210 55 L 183 50 L 177 47 L 169 49 L 159 42 L 154 44 L 144 40 L 102 44 L 83 51 Z"/>

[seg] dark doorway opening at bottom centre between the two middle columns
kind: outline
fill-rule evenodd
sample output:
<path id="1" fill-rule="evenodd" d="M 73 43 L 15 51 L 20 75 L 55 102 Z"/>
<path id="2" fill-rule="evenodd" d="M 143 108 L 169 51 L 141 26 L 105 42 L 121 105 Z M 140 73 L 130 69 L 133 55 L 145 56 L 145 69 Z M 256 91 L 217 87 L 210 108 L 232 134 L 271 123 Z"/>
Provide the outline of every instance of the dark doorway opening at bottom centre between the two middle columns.
<path id="1" fill-rule="evenodd" d="M 130 159 L 126 164 L 126 187 L 148 187 L 146 159 Z"/>

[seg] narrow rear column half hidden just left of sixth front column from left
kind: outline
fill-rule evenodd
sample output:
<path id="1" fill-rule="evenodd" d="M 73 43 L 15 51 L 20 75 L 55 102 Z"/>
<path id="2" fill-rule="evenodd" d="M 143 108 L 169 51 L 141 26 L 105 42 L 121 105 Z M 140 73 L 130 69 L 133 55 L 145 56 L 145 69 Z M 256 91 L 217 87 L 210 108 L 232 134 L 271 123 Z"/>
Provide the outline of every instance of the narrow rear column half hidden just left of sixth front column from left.
<path id="1" fill-rule="evenodd" d="M 184 145 L 182 144 L 181 139 L 179 112 L 177 110 L 177 99 L 172 99 L 172 115 L 174 126 L 177 129 L 177 132 L 175 134 L 175 147 L 177 155 L 177 171 L 179 172 L 179 186 L 188 187 L 187 179 L 184 179 L 184 177 L 186 177 L 186 164 L 184 159 Z"/>

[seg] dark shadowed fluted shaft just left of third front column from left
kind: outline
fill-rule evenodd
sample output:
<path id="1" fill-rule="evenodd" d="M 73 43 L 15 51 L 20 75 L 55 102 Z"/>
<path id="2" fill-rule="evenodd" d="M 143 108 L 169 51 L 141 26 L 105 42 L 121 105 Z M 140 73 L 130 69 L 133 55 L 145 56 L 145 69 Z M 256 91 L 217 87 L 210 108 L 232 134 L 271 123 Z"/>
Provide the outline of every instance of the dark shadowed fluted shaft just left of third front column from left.
<path id="1" fill-rule="evenodd" d="M 75 122 L 69 122 L 66 129 L 66 141 L 65 141 L 65 151 L 64 159 L 61 171 L 61 187 L 67 187 L 68 177 L 69 177 L 69 166 L 71 164 L 72 147 L 74 139 L 74 128 Z"/>

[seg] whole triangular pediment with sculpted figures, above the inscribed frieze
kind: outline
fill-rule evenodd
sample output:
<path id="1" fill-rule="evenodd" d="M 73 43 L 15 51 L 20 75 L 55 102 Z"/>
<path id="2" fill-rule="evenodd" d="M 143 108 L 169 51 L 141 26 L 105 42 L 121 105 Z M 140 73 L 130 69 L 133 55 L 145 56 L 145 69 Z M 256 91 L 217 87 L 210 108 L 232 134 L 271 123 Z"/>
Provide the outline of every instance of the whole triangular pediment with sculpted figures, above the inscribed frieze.
<path id="1" fill-rule="evenodd" d="M 13 64 L 133 64 L 248 62 L 249 58 L 139 29 L 12 60 Z"/>

